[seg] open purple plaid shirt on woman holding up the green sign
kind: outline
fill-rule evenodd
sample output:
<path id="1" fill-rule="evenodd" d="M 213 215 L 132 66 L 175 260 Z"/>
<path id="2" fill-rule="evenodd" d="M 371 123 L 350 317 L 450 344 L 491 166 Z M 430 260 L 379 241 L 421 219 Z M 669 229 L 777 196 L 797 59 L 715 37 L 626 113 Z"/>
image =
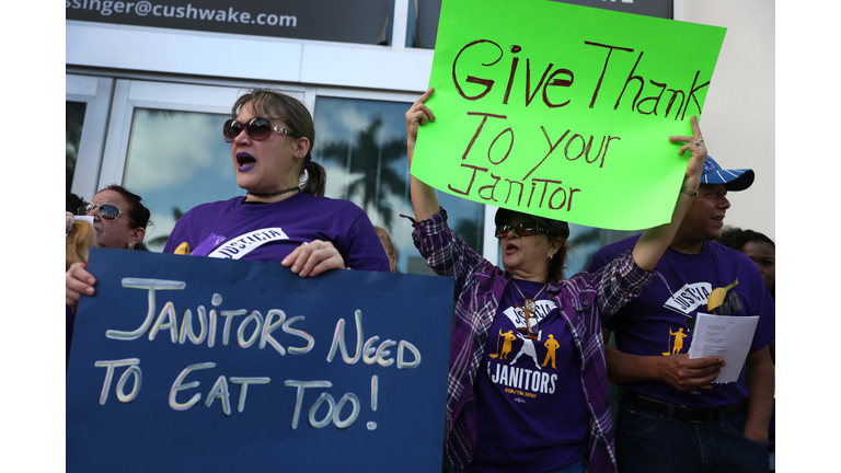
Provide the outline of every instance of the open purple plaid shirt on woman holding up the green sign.
<path id="1" fill-rule="evenodd" d="M 456 278 L 446 427 L 447 453 L 456 466 L 463 469 L 472 461 L 479 439 L 473 381 L 487 331 L 511 275 L 492 265 L 450 230 L 443 208 L 427 220 L 412 221 L 412 238 L 427 265 L 440 276 Z M 598 273 L 549 281 L 549 297 L 566 321 L 581 360 L 581 390 L 590 415 L 590 472 L 617 471 L 600 318 L 613 314 L 636 297 L 653 275 L 640 268 L 627 251 Z"/>

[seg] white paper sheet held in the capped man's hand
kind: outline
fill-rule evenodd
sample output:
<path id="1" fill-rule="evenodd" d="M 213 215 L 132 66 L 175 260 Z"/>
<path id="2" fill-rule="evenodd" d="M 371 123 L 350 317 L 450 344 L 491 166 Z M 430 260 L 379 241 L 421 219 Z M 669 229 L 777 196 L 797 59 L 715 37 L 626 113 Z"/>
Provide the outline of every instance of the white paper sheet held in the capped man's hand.
<path id="1" fill-rule="evenodd" d="M 713 382 L 734 382 L 739 379 L 748 357 L 759 315 L 733 316 L 699 313 L 692 333 L 690 358 L 717 356 L 724 358 L 724 368 Z"/>

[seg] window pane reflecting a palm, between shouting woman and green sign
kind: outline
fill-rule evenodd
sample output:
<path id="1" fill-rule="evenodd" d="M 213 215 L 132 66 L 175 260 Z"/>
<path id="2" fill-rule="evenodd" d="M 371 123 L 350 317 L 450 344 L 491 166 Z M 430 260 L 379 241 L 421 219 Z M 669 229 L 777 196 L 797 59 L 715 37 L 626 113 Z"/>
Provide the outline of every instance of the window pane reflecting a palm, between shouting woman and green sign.
<path id="1" fill-rule="evenodd" d="M 408 189 L 405 112 L 407 102 L 319 96 L 315 100 L 313 160 L 327 171 L 327 197 L 361 207 L 391 235 L 399 273 L 430 274 L 412 243 L 414 216 Z M 438 193 L 450 227 L 482 254 L 484 206 Z"/>

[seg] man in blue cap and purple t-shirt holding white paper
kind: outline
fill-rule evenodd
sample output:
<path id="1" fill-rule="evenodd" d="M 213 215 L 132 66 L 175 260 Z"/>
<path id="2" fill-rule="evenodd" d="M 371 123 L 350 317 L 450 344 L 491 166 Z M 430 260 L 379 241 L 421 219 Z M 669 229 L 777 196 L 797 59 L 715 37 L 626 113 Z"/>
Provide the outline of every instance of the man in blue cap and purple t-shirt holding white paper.
<path id="1" fill-rule="evenodd" d="M 751 170 L 723 170 L 707 157 L 698 196 L 657 263 L 660 278 L 602 323 L 609 380 L 620 385 L 615 441 L 620 472 L 768 472 L 768 425 L 774 367 L 774 301 L 757 266 L 714 242 L 728 191 L 753 182 Z M 630 236 L 601 249 L 596 270 L 633 246 Z M 716 313 L 759 315 L 749 355 L 736 382 L 714 383 L 723 359 L 689 359 L 698 313 L 710 313 L 715 288 L 738 284 Z M 733 296 L 735 295 L 735 296 Z M 680 339 L 679 339 L 680 337 Z M 682 347 L 678 349 L 680 342 Z"/>

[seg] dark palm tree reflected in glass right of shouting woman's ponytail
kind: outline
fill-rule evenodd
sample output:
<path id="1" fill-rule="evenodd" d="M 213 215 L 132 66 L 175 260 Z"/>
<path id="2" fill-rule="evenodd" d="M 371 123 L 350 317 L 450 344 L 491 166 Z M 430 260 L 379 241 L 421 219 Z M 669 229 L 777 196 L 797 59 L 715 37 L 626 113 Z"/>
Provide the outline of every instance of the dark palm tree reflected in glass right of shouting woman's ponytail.
<path id="1" fill-rule="evenodd" d="M 348 178 L 360 175 L 345 185 L 344 197 L 361 194 L 360 207 L 367 212 L 378 210 L 385 227 L 391 226 L 393 209 L 389 194 L 401 198 L 406 182 L 402 173 L 395 172 L 390 163 L 405 159 L 406 137 L 402 136 L 380 143 L 377 140 L 382 127 L 382 117 L 378 116 L 364 130 L 357 134 L 356 145 L 336 140 L 323 145 L 321 157 L 326 160 L 344 162 Z"/>

